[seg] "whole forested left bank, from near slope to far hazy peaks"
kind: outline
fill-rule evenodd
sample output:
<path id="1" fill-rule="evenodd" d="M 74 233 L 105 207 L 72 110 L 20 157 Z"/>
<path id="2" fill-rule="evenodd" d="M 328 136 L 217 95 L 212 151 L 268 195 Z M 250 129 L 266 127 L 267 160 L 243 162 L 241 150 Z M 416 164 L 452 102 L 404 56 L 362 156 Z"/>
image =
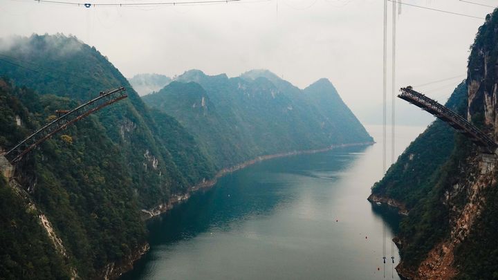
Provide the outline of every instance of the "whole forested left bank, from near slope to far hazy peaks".
<path id="1" fill-rule="evenodd" d="M 143 218 L 221 169 L 372 141 L 331 84 L 323 94 L 338 106 L 338 120 L 330 120 L 335 108 L 326 115 L 290 84 L 292 93 L 265 77 L 197 71 L 151 95 L 169 102 L 149 109 L 106 57 L 75 37 L 16 37 L 0 46 L 1 151 L 54 120 L 56 110 L 119 86 L 128 95 L 24 156 L 10 184 L 0 178 L 0 207 L 8 209 L 0 214 L 0 278 L 116 278 L 148 248 Z M 197 77 L 203 81 L 187 82 Z"/>

